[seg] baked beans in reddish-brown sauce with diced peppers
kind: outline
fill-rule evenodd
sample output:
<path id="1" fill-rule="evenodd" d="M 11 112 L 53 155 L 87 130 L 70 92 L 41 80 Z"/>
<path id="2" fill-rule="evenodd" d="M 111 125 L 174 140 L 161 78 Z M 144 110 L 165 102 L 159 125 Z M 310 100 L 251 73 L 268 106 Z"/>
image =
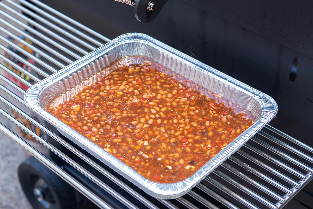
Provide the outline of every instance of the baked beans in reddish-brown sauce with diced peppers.
<path id="1" fill-rule="evenodd" d="M 164 69 L 124 65 L 48 111 L 147 179 L 184 180 L 253 121 Z"/>

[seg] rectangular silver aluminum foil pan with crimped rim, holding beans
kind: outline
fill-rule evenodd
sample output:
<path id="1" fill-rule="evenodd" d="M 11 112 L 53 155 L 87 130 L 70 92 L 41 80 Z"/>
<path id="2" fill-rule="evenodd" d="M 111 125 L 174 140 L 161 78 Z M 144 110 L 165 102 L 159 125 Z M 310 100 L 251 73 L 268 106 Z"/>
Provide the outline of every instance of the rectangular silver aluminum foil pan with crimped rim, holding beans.
<path id="1" fill-rule="evenodd" d="M 106 76 L 114 69 L 100 71 L 110 63 L 126 56 L 140 55 L 151 58 L 185 78 L 207 88 L 223 98 L 247 109 L 255 123 L 222 149 L 192 176 L 176 183 L 158 183 L 146 179 L 112 154 L 85 138 L 46 111 L 55 97 L 68 100 L 78 93 L 80 86 L 88 85 Z M 115 66 L 125 64 L 121 59 Z M 114 68 L 114 67 L 111 67 Z M 75 87 L 76 86 L 76 87 Z M 75 88 L 74 88 L 75 87 Z M 61 96 L 60 96 L 61 95 Z M 90 54 L 30 87 L 25 94 L 26 105 L 45 120 L 54 124 L 59 132 L 85 149 L 97 159 L 130 180 L 151 196 L 173 199 L 186 194 L 255 133 L 271 121 L 278 112 L 273 98 L 227 76 L 198 60 L 183 54 L 145 34 L 124 34 L 101 46 Z"/>

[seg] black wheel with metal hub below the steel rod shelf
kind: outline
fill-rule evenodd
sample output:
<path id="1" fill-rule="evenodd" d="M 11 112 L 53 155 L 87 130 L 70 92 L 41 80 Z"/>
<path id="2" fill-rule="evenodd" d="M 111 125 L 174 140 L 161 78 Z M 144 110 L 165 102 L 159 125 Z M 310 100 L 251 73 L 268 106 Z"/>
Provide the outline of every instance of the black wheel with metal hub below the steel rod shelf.
<path id="1" fill-rule="evenodd" d="M 18 167 L 18 179 L 34 209 L 74 209 L 74 189 L 34 157 Z"/>

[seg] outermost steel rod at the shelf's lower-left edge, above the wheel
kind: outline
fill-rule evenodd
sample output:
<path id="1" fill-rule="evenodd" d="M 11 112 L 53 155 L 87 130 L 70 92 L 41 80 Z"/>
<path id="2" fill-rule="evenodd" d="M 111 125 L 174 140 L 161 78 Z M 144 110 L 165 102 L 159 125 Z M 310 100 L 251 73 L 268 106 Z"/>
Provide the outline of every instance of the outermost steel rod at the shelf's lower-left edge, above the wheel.
<path id="1" fill-rule="evenodd" d="M 20 138 L 15 133 L 13 133 L 10 129 L 8 129 L 6 126 L 4 126 L 1 122 L 0 122 L 0 130 L 4 134 L 6 134 L 9 138 L 11 138 L 14 142 L 16 142 L 18 145 L 20 145 L 22 148 L 24 148 L 28 152 L 32 153 L 32 155 L 35 158 L 37 158 L 40 162 L 42 162 L 44 165 L 46 165 L 49 169 L 54 171 L 54 173 L 59 175 L 62 179 L 64 179 L 66 182 L 68 182 L 70 185 L 72 185 L 77 191 L 82 193 L 84 196 L 86 196 L 90 201 L 95 203 L 97 206 L 99 206 L 100 208 L 105 208 L 105 209 L 113 209 L 105 201 L 103 201 L 98 196 L 96 196 L 93 192 L 91 192 L 89 189 L 87 189 L 85 186 L 83 186 L 79 181 L 74 179 L 67 172 L 62 170 L 58 165 L 54 164 L 51 160 L 49 160 L 43 154 L 38 152 L 37 149 L 33 148 L 31 145 L 29 145 L 27 142 L 25 142 L 22 138 Z"/>

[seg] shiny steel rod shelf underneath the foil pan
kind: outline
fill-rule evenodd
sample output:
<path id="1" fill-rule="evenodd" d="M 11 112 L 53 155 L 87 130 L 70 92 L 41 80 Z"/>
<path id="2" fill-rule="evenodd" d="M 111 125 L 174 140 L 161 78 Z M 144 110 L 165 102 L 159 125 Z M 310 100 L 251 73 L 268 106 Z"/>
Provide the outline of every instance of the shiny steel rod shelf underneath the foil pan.
<path id="1" fill-rule="evenodd" d="M 46 128 L 46 125 L 24 107 L 23 94 L 27 86 L 72 63 L 110 39 L 38 0 L 1 1 L 0 31 L 0 59 L 6 63 L 0 64 L 0 89 L 3 91 L 0 94 L 3 95 L 0 96 L 0 107 L 7 105 L 32 125 L 20 122 L 3 108 L 0 108 L 0 113 L 128 208 L 193 209 L 206 206 L 215 209 L 226 206 L 278 209 L 290 201 L 312 178 L 313 149 L 267 125 L 185 196 L 174 200 L 152 198 Z M 19 65 L 18 62 L 24 65 Z M 12 67 L 15 69 L 12 70 Z M 32 127 L 37 127 L 41 133 L 89 164 L 95 169 L 96 175 L 38 135 L 38 131 L 35 132 Z M 66 169 L 53 163 L 14 130 L 10 130 L 3 123 L 0 123 L 0 129 L 100 208 L 114 208 L 97 191 L 93 191 Z"/>

